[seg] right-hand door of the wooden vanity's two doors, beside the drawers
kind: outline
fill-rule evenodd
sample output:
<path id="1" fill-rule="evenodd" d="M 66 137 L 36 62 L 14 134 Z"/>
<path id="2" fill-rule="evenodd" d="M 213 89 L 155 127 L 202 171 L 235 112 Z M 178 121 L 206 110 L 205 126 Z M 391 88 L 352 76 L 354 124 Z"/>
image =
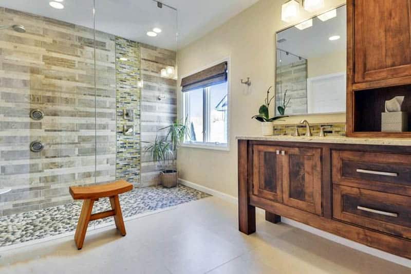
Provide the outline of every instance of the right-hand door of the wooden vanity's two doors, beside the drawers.
<path id="1" fill-rule="evenodd" d="M 321 149 L 286 148 L 281 154 L 284 204 L 321 215 Z"/>

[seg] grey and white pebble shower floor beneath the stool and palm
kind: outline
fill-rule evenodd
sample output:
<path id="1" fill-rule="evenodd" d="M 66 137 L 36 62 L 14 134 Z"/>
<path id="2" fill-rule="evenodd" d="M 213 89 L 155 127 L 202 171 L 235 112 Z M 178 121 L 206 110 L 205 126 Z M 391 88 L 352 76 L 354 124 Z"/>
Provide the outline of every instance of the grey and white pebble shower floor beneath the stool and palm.
<path id="1" fill-rule="evenodd" d="M 179 185 L 176 188 L 148 187 L 133 189 L 120 195 L 123 217 L 155 211 L 209 196 L 206 193 Z M 42 210 L 12 214 L 0 218 L 0 247 L 39 240 L 76 230 L 82 201 Z M 109 210 L 108 198 L 94 204 L 93 212 Z M 113 222 L 105 218 L 90 222 L 89 226 Z"/>

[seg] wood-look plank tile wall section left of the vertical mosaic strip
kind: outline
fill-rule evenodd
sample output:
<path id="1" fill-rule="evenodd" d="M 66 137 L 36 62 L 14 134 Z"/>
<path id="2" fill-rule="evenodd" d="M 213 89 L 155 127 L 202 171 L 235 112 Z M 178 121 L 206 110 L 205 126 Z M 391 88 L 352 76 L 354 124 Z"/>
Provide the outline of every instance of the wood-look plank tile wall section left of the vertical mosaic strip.
<path id="1" fill-rule="evenodd" d="M 64 204 L 70 185 L 114 180 L 114 35 L 96 33 L 95 79 L 93 30 L 5 8 L 0 24 L 27 30 L 0 31 L 0 189 L 12 189 L 0 213 Z M 33 108 L 45 117 L 32 120 Z M 33 140 L 45 149 L 30 152 Z"/>

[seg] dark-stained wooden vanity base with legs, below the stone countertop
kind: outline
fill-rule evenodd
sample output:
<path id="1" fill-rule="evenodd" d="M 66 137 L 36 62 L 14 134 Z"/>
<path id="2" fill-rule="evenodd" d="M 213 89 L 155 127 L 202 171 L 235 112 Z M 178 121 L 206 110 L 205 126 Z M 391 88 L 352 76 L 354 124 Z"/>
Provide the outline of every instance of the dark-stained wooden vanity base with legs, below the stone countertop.
<path id="1" fill-rule="evenodd" d="M 411 259 L 411 147 L 238 140 L 239 230 L 255 207 Z"/>

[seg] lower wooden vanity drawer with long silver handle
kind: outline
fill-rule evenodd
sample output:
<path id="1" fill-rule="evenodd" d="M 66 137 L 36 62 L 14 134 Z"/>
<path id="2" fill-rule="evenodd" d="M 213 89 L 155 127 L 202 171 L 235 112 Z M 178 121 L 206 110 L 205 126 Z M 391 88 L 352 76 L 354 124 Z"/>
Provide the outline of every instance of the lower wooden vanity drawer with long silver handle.
<path id="1" fill-rule="evenodd" d="M 411 197 L 333 185 L 333 218 L 411 239 Z"/>

